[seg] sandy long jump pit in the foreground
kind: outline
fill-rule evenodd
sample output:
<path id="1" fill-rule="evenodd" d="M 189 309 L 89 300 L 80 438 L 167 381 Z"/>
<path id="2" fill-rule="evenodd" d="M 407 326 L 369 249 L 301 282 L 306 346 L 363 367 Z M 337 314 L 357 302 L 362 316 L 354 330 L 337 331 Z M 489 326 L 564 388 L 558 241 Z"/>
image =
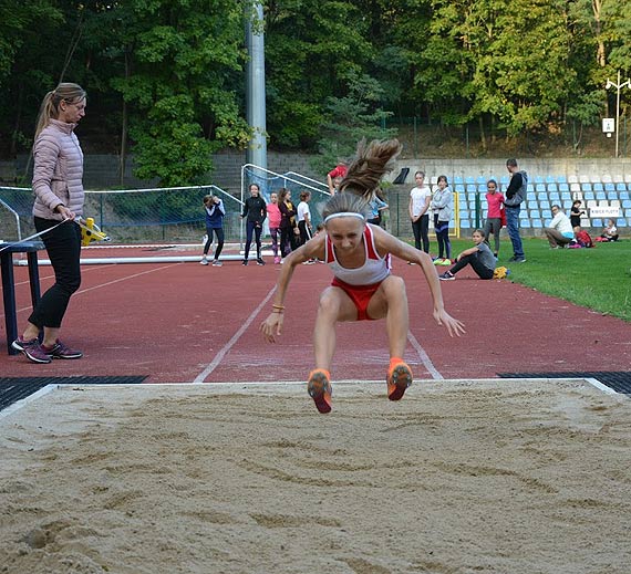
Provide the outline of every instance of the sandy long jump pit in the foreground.
<path id="1" fill-rule="evenodd" d="M 62 387 L 0 418 L 0 572 L 631 571 L 631 401 L 581 380 Z"/>

